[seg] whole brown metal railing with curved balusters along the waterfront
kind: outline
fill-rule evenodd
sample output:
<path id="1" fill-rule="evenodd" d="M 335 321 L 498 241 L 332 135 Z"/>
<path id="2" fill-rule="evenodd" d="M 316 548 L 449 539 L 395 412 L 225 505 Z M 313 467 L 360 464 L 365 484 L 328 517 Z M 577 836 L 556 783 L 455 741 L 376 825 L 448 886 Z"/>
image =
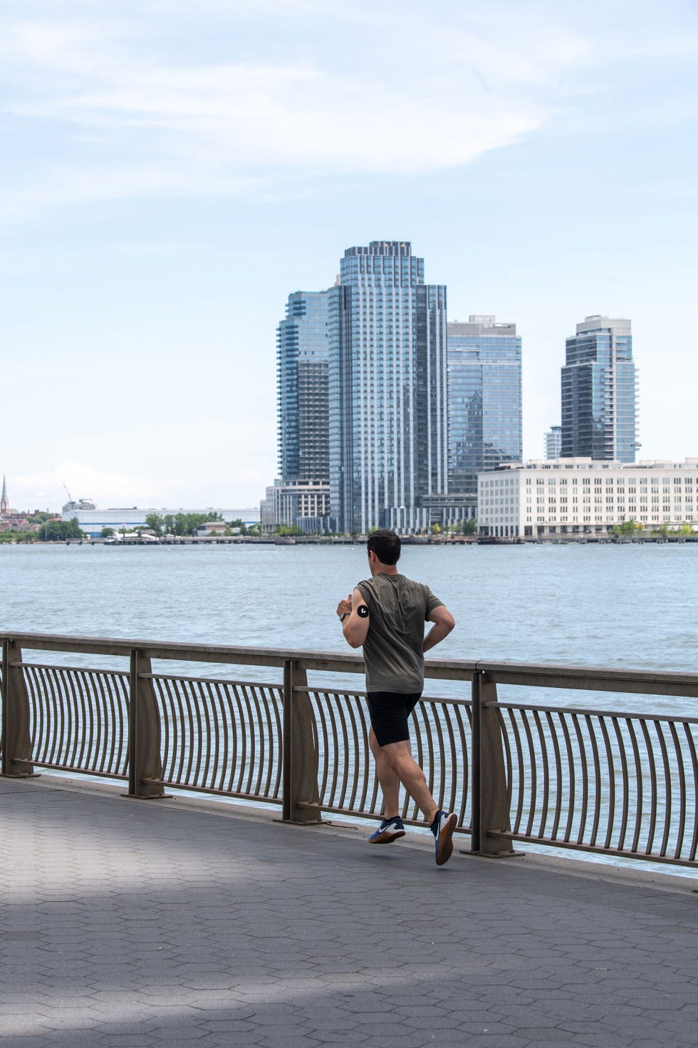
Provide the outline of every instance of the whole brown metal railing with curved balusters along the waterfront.
<path id="1" fill-rule="evenodd" d="M 128 781 L 132 796 L 167 788 L 280 805 L 286 821 L 377 817 L 365 694 L 329 675 L 362 673 L 354 655 L 152 641 L 2 636 L 2 773 L 35 767 Z M 25 651 L 58 652 L 26 661 Z M 119 668 L 63 664 L 71 653 Z M 73 659 L 74 661 L 74 659 Z M 188 672 L 154 672 L 153 663 Z M 232 680 L 205 662 L 245 667 Z M 308 674 L 319 678 L 309 684 Z M 698 674 L 429 659 L 413 748 L 429 788 L 478 854 L 513 842 L 696 867 L 698 718 L 502 701 L 512 689 L 698 697 Z M 454 685 L 450 684 L 450 687 Z M 403 817 L 423 824 L 404 798 Z"/>

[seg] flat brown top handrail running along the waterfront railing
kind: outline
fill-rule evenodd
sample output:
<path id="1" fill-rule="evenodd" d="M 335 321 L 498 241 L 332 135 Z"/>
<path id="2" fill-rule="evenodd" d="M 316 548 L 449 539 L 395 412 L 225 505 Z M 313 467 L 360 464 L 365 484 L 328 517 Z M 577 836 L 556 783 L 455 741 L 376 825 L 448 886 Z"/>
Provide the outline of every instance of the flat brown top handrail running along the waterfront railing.
<path id="1" fill-rule="evenodd" d="M 116 637 L 61 636 L 49 633 L 0 632 L 9 640 L 32 651 L 77 652 L 87 655 L 115 655 L 128 658 L 132 651 L 143 657 L 181 662 L 228 662 L 237 665 L 283 668 L 289 659 L 308 670 L 325 673 L 363 673 L 363 658 L 340 652 L 303 649 L 255 648 L 234 645 L 185 645 L 172 640 L 142 640 Z M 571 687 L 588 691 L 617 691 L 698 697 L 698 673 L 677 670 L 623 669 L 559 663 L 516 662 L 492 659 L 427 658 L 425 676 L 442 680 L 470 680 L 483 673 L 494 683 L 524 686 Z M 629 687 L 628 685 L 643 685 Z"/>

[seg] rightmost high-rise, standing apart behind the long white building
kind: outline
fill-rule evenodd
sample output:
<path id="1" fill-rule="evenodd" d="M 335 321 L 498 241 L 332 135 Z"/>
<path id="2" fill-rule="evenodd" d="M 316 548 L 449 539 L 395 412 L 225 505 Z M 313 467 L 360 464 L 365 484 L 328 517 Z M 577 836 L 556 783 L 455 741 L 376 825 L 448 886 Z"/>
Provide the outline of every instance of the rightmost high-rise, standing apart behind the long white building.
<path id="1" fill-rule="evenodd" d="M 587 316 L 566 343 L 561 454 L 634 462 L 638 446 L 630 321 Z"/>

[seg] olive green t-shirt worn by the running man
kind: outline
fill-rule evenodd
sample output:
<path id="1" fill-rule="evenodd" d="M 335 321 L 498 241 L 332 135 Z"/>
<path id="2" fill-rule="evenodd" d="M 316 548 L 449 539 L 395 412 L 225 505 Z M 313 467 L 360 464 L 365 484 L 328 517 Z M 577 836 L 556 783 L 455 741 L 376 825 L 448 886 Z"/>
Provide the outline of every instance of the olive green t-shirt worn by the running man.
<path id="1" fill-rule="evenodd" d="M 443 601 L 405 575 L 380 573 L 358 583 L 370 623 L 363 642 L 367 692 L 410 695 L 424 687 L 424 624 Z"/>

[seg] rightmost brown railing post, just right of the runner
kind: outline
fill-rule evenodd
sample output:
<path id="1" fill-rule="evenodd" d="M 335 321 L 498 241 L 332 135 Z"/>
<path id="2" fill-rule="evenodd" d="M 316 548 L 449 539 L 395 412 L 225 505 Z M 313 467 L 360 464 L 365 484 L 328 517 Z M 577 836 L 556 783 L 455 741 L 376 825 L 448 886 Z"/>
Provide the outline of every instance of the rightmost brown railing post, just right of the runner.
<path id="1" fill-rule="evenodd" d="M 501 739 L 497 685 L 481 670 L 473 675 L 473 851 L 480 855 L 513 855 L 504 747 Z"/>

